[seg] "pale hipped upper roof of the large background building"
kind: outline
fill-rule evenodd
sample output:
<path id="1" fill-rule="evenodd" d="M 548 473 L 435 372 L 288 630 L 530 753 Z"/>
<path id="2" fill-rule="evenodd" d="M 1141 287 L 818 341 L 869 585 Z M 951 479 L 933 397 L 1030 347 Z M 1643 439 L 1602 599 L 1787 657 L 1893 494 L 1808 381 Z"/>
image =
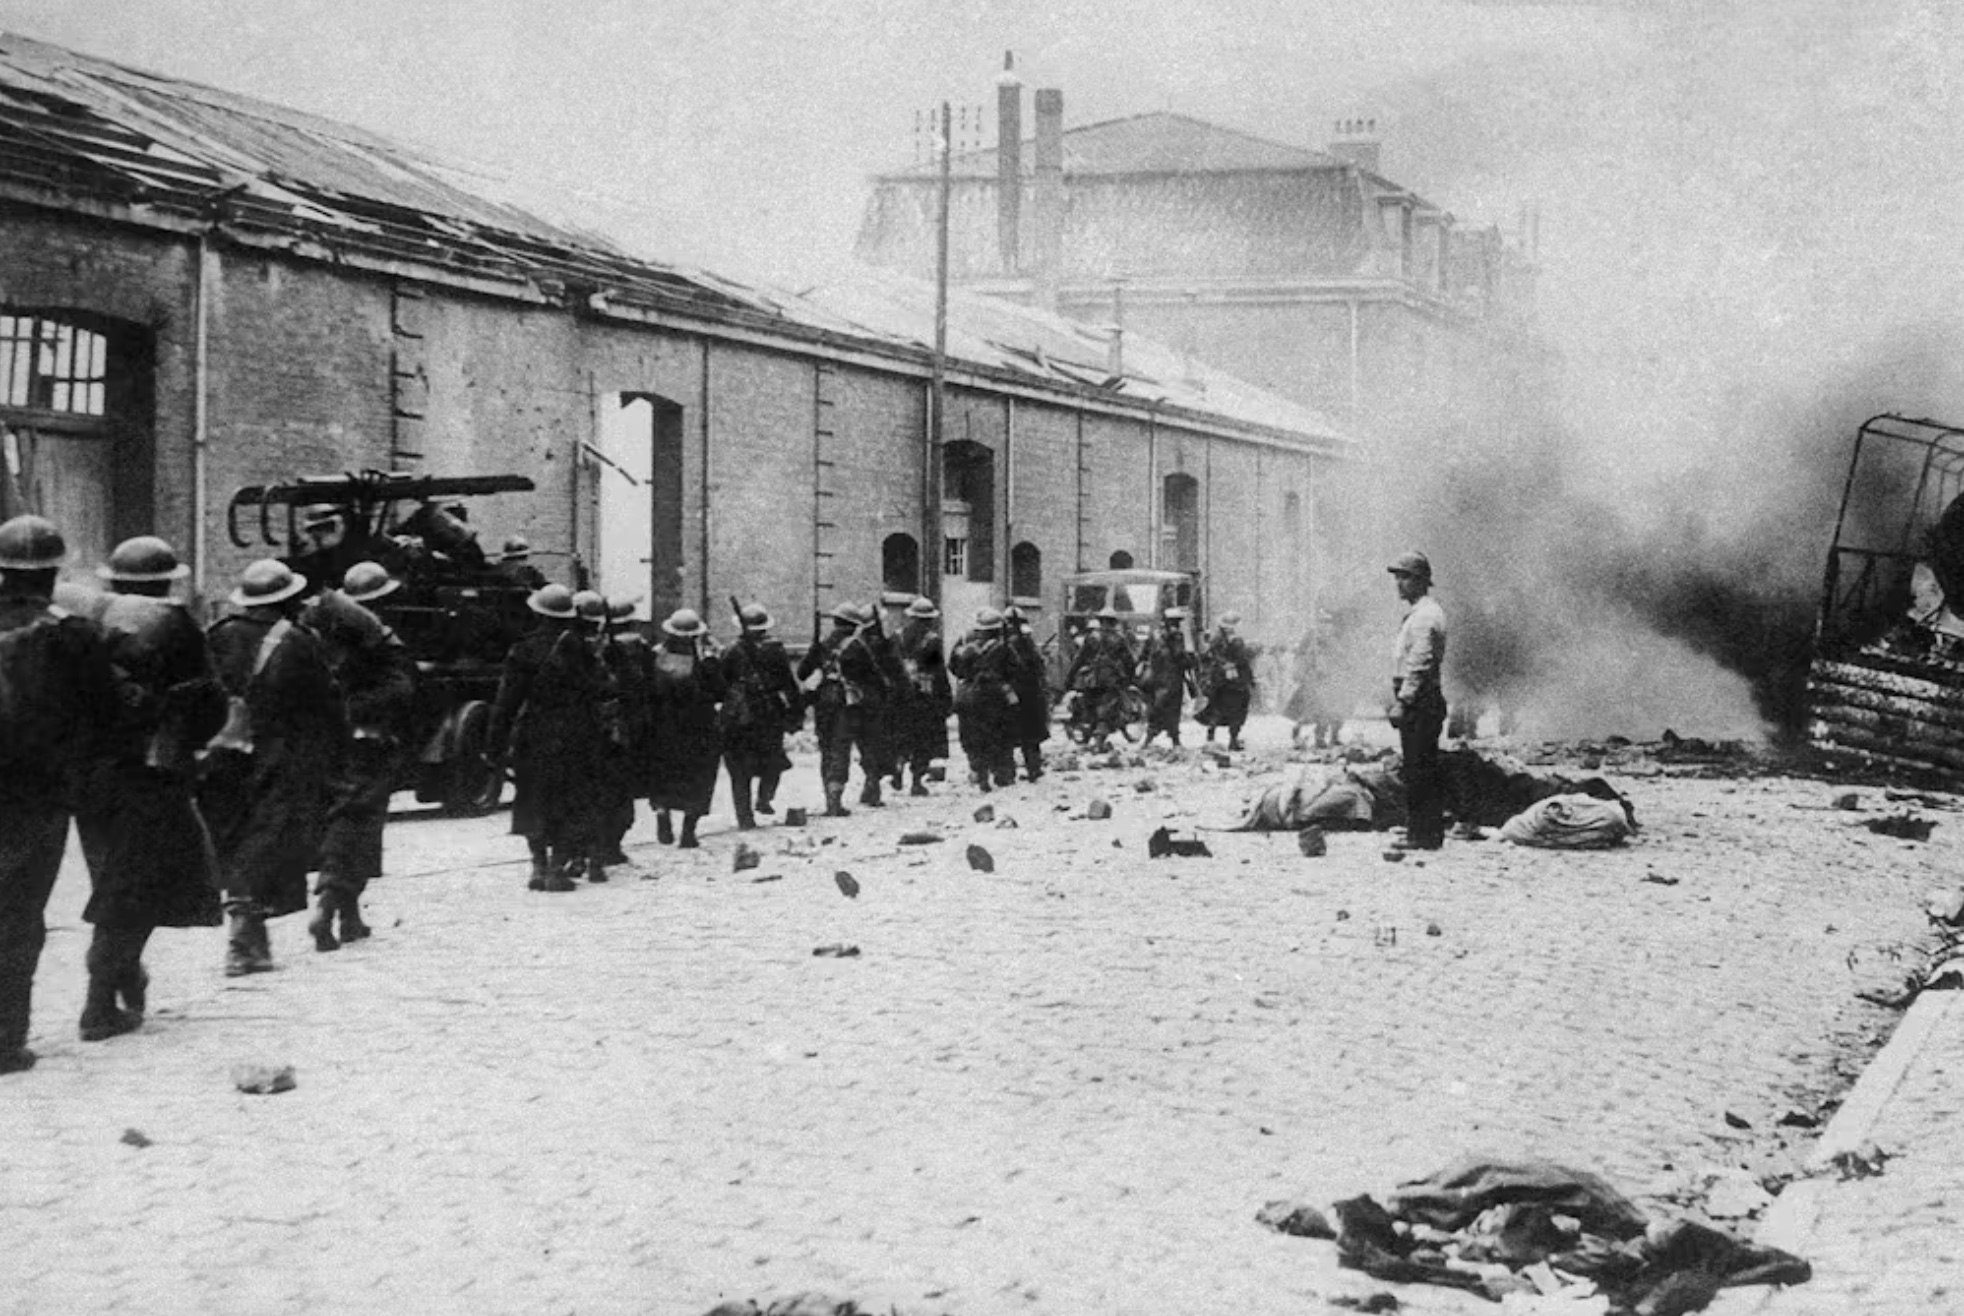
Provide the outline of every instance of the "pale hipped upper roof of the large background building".
<path id="1" fill-rule="evenodd" d="M 1125 118 L 1066 128 L 1063 134 L 1064 173 L 1074 177 L 1118 177 L 1141 173 L 1296 173 L 1300 169 L 1343 169 L 1347 161 L 1324 151 L 1271 141 L 1237 128 L 1222 128 L 1188 114 L 1155 110 Z M 1037 141 L 1023 139 L 1021 163 L 1035 167 Z M 994 179 L 996 147 L 962 151 L 949 161 L 956 179 Z M 933 163 L 896 169 L 892 179 L 933 177 Z"/>

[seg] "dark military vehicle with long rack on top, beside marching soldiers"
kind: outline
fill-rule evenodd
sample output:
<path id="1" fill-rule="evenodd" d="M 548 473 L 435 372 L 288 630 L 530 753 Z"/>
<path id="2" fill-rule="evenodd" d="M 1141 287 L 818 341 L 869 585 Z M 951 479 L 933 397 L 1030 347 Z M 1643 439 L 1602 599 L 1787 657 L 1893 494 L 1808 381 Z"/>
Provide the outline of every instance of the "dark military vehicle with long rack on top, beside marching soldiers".
<path id="1" fill-rule="evenodd" d="M 503 776 L 485 750 L 507 650 L 530 625 L 530 585 L 477 544 L 462 499 L 530 493 L 524 475 L 350 471 L 249 485 L 232 495 L 226 530 L 297 572 L 340 583 L 381 562 L 403 587 L 385 611 L 416 662 L 410 754 L 401 790 L 454 813 L 499 803 Z"/>

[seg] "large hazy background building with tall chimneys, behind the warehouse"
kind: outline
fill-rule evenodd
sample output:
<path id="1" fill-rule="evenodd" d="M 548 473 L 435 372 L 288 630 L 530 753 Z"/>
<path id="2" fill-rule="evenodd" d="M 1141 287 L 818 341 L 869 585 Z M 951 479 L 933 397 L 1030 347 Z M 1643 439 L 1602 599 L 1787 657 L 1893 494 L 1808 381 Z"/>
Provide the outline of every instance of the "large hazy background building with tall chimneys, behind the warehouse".
<path id="1" fill-rule="evenodd" d="M 1176 344 L 1355 432 L 1465 434 L 1542 369 L 1532 267 L 1381 173 L 1375 120 L 1330 149 L 1155 112 L 1064 130 L 998 81 L 998 145 L 951 161 L 951 279 Z M 874 177 L 862 261 L 927 273 L 939 165 Z"/>

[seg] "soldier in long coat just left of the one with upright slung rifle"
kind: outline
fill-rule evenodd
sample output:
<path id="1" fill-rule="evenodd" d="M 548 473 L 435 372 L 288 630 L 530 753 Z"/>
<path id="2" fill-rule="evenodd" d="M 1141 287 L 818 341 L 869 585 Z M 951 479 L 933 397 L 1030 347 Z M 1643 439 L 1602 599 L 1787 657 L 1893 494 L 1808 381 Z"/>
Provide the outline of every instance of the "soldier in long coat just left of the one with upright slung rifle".
<path id="1" fill-rule="evenodd" d="M 662 644 L 654 650 L 648 707 L 654 723 L 654 776 L 648 803 L 656 809 L 654 839 L 693 850 L 695 823 L 709 813 L 723 764 L 723 729 L 717 705 L 729 691 L 723 660 L 709 638 L 709 625 L 683 607 L 662 623 Z M 682 811 L 682 839 L 668 811 Z"/>

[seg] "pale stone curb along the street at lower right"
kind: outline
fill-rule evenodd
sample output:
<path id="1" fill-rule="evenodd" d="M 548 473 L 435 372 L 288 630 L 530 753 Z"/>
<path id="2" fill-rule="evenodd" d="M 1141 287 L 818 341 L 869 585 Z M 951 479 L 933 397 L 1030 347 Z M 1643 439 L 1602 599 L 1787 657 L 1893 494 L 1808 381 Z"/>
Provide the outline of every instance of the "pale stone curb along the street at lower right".
<path id="1" fill-rule="evenodd" d="M 1836 1179 L 1821 1177 L 1821 1173 L 1838 1153 L 1854 1151 L 1872 1139 L 1876 1125 L 1882 1122 L 1897 1090 L 1901 1090 L 1911 1067 L 1923 1059 L 1923 1049 L 1937 1029 L 1958 1010 L 1960 1000 L 1964 1000 L 1964 992 L 1917 994 L 1917 1000 L 1903 1012 L 1901 1023 L 1889 1033 L 1889 1041 L 1868 1063 L 1868 1069 L 1856 1078 L 1854 1088 L 1848 1090 L 1848 1100 L 1842 1102 L 1834 1118 L 1828 1120 L 1828 1127 L 1823 1129 L 1821 1141 L 1815 1143 L 1813 1153 L 1807 1157 L 1809 1179 L 1793 1180 L 1773 1198 L 1773 1204 L 1760 1220 L 1754 1241 L 1791 1251 L 1803 1259 L 1807 1257 L 1809 1243 L 1821 1226 L 1821 1214 L 1832 1190 L 1840 1186 Z M 1799 1289 L 1805 1289 L 1805 1285 Z M 1754 1312 L 1768 1310 L 1781 1292 L 1785 1289 L 1772 1285 L 1728 1289 L 1705 1310 L 1713 1312 L 1713 1316 L 1752 1316 Z"/>

